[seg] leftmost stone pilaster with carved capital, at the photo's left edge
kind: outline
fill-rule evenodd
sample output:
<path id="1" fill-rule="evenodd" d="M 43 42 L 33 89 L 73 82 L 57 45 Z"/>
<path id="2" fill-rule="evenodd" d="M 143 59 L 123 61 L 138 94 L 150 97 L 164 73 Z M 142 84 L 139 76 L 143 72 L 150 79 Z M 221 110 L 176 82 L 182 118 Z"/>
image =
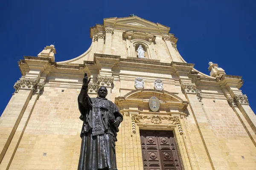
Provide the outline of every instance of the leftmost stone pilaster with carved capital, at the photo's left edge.
<path id="1" fill-rule="evenodd" d="M 0 142 L 0 162 L 6 154 L 9 144 L 12 142 L 12 138 L 23 117 L 23 113 L 30 99 L 32 99 L 33 92 L 38 90 L 39 94 L 40 89 L 43 87 L 44 85 L 42 84 L 38 85 L 37 78 L 30 79 L 21 77 L 20 80 L 15 83 L 15 94 L 12 96 L 12 99 L 9 101 L 0 118 L 0 135 L 2 136 Z"/>

